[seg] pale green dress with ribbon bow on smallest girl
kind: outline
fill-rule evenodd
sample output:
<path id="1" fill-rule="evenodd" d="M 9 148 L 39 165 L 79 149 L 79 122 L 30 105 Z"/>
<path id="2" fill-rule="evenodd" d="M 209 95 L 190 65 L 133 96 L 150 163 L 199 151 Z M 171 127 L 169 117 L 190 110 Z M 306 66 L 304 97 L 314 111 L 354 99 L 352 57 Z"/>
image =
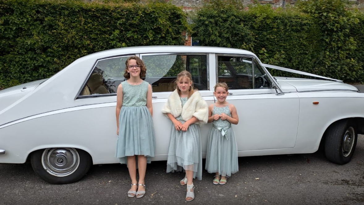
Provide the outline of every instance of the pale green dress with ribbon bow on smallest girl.
<path id="1" fill-rule="evenodd" d="M 225 113 L 231 117 L 229 105 L 226 107 L 214 106 L 212 115 Z M 205 169 L 209 173 L 220 173 L 230 177 L 239 170 L 238 147 L 234 130 L 227 120 L 214 120 L 207 139 L 207 153 Z"/>

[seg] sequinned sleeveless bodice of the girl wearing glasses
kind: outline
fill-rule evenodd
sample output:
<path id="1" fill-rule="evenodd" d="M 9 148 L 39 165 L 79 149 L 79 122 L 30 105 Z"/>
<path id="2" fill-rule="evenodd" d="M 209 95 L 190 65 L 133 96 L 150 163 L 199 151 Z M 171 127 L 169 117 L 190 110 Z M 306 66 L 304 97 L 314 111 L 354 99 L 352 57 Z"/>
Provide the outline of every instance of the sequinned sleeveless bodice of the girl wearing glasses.
<path id="1" fill-rule="evenodd" d="M 123 81 L 123 106 L 142 107 L 147 105 L 148 82 L 143 81 L 139 85 L 130 85 Z"/>

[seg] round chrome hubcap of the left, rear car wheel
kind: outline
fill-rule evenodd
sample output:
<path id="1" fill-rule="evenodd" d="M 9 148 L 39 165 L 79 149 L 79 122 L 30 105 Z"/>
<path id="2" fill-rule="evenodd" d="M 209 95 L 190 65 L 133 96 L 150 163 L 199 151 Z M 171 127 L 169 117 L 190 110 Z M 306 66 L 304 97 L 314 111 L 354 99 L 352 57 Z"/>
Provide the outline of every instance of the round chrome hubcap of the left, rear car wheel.
<path id="1" fill-rule="evenodd" d="M 79 159 L 74 148 L 48 148 L 42 154 L 42 165 L 51 175 L 66 177 L 77 170 Z"/>

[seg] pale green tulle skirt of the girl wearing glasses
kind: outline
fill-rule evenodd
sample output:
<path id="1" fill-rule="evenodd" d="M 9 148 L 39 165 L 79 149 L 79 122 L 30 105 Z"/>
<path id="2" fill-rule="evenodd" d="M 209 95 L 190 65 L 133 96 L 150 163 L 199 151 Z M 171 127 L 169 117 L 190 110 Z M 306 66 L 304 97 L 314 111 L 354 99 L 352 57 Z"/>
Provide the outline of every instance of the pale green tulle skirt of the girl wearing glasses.
<path id="1" fill-rule="evenodd" d="M 115 156 L 127 163 L 127 156 L 144 155 L 147 163 L 154 157 L 155 139 L 152 116 L 146 106 L 125 107 L 119 115 L 119 136 Z"/>

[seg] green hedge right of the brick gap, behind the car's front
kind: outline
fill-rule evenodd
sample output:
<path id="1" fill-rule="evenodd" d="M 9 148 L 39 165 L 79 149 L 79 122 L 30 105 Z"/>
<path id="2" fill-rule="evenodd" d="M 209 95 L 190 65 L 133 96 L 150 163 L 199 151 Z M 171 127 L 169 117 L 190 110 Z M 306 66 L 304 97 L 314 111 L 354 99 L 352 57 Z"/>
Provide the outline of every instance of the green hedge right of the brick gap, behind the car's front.
<path id="1" fill-rule="evenodd" d="M 298 1 L 294 8 L 276 10 L 211 0 L 191 18 L 201 46 L 246 49 L 264 63 L 364 82 L 363 13 L 348 10 L 341 0 Z"/>

